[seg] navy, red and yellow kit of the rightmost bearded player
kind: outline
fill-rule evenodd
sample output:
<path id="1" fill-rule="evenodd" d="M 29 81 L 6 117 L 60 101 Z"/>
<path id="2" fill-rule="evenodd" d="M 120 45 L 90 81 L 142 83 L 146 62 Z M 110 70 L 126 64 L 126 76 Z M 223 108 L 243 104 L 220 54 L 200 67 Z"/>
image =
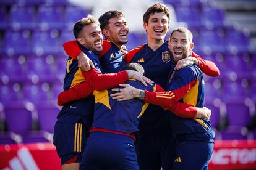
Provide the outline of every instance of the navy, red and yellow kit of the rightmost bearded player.
<path id="1" fill-rule="evenodd" d="M 168 91 L 146 91 L 145 102 L 159 105 L 164 109 L 168 109 L 177 101 L 204 107 L 204 85 L 202 71 L 196 65 L 177 71 L 171 70 Z M 173 169 L 207 169 L 215 137 L 210 121 L 203 118 L 186 119 L 174 114 L 170 116 L 177 138 Z"/>

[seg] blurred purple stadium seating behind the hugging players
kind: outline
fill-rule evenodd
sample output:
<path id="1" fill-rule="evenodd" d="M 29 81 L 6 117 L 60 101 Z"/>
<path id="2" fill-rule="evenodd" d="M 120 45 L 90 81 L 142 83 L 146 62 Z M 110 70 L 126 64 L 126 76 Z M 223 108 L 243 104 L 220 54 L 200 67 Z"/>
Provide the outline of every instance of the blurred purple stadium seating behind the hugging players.
<path id="1" fill-rule="evenodd" d="M 168 6 L 171 30 L 189 28 L 194 52 L 220 68 L 218 78 L 205 76 L 216 140 L 256 139 L 256 1 L 1 0 L 0 144 L 53 142 L 67 60 L 62 44 L 74 39 L 77 20 L 122 11 L 130 50 L 147 42 L 142 16 L 156 2 Z"/>

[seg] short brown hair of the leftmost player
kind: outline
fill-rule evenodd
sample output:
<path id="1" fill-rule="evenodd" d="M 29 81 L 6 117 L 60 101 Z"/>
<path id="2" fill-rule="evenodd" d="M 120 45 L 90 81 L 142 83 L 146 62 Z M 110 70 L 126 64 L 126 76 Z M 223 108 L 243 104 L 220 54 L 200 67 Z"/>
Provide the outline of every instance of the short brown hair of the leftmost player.
<path id="1" fill-rule="evenodd" d="M 83 30 L 84 26 L 90 25 L 92 23 L 98 23 L 98 25 L 100 25 L 100 23 L 90 14 L 87 15 L 86 18 L 82 18 L 81 20 L 77 21 L 73 28 L 75 39 L 79 37 L 79 34 Z"/>

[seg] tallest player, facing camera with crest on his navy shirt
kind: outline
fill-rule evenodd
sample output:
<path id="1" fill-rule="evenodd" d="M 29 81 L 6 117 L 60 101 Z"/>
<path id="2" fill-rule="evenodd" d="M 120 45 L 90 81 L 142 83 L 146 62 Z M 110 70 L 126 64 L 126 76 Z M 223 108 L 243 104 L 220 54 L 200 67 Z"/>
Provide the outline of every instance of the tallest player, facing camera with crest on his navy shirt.
<path id="1" fill-rule="evenodd" d="M 169 30 L 169 12 L 163 4 L 154 4 L 143 15 L 143 26 L 148 36 L 148 43 L 129 51 L 126 62 L 138 62 L 145 69 L 145 76 L 166 86 L 169 71 L 174 68 L 168 49 L 168 41 L 164 41 Z M 218 76 L 219 71 L 212 62 L 202 60 L 191 52 L 190 63 L 195 63 L 209 76 Z M 180 60 L 175 68 L 181 68 Z M 137 146 L 138 163 L 142 170 L 171 169 L 174 156 L 175 138 L 171 125 L 171 116 L 161 107 L 149 105 L 140 120 L 140 140 Z"/>

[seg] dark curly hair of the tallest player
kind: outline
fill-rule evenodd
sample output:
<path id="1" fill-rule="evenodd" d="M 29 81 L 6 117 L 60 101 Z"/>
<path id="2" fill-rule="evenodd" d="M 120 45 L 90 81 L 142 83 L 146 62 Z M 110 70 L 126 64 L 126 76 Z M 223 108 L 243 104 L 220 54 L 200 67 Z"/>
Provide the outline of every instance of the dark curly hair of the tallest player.
<path id="1" fill-rule="evenodd" d="M 168 17 L 168 21 L 170 20 L 168 7 L 164 4 L 157 3 L 147 9 L 145 14 L 143 15 L 143 22 L 148 23 L 148 19 L 150 18 L 150 15 L 154 15 L 155 12 L 157 13 L 163 12 Z"/>

